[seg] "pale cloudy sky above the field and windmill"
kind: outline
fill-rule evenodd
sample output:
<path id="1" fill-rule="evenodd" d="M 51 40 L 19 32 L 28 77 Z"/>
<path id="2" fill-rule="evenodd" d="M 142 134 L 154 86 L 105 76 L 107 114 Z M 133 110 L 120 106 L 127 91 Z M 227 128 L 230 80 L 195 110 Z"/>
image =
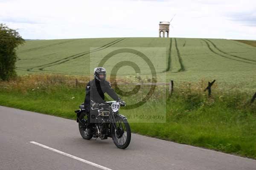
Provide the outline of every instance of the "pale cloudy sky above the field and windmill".
<path id="1" fill-rule="evenodd" d="M 170 37 L 256 40 L 256 0 L 0 0 L 23 39 L 158 37 L 172 17 Z"/>

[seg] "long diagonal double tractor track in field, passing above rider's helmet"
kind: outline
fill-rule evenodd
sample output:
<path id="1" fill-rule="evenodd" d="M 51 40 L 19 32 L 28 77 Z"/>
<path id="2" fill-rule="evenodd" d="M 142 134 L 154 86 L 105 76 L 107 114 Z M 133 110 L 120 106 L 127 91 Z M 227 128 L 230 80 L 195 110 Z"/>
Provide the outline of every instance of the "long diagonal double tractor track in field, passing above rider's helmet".
<path id="1" fill-rule="evenodd" d="M 54 62 L 50 62 L 50 63 L 44 64 L 44 65 L 38 65 L 36 67 L 29 68 L 29 69 L 27 69 L 27 71 L 31 71 L 34 68 L 39 68 L 39 70 L 43 71 L 44 68 L 47 68 L 47 67 L 50 67 L 50 66 L 53 66 L 53 65 L 59 65 L 59 64 L 62 64 L 64 62 L 68 62 L 68 61 L 70 61 L 72 59 L 76 59 L 76 58 L 79 58 L 81 56 L 84 56 L 86 54 L 90 54 L 90 53 L 93 53 L 93 52 L 96 52 L 96 51 L 104 50 L 104 49 L 106 49 L 106 48 L 108 48 L 108 47 L 110 47 L 110 46 L 112 46 L 112 45 L 114 45 L 114 44 L 116 44 L 116 43 L 118 43 L 118 42 L 120 42 L 122 40 L 125 40 L 125 38 L 120 38 L 120 39 L 114 40 L 114 41 L 112 41 L 112 42 L 110 42 L 108 44 L 102 45 L 101 47 L 96 48 L 96 49 L 94 49 L 92 51 L 84 51 L 84 52 L 81 52 L 79 54 L 74 54 L 74 55 L 71 55 L 69 57 L 65 57 L 63 59 L 56 60 Z"/>

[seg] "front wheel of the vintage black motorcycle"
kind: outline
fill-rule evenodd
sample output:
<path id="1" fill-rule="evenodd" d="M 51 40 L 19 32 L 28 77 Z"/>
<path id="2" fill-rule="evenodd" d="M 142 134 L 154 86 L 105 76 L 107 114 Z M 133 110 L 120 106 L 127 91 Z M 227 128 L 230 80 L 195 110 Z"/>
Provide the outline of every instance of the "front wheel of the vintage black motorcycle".
<path id="1" fill-rule="evenodd" d="M 131 142 L 131 128 L 126 119 L 117 119 L 116 129 L 111 124 L 111 136 L 116 147 L 125 149 Z"/>

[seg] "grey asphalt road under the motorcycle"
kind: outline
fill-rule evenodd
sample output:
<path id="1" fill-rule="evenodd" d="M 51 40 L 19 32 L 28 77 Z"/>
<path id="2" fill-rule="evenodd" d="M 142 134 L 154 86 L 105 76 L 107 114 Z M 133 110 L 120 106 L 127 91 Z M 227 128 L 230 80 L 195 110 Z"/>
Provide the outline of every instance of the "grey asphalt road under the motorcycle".
<path id="1" fill-rule="evenodd" d="M 104 168 L 256 170 L 256 160 L 137 134 L 121 150 L 111 138 L 82 139 L 74 120 L 0 106 L 0 170 Z"/>

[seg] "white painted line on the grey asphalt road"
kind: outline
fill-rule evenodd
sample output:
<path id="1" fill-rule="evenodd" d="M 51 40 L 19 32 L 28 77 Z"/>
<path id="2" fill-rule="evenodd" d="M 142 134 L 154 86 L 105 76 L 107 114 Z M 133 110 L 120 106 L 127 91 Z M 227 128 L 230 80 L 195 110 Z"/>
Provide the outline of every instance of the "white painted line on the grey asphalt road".
<path id="1" fill-rule="evenodd" d="M 99 165 L 99 164 L 95 164 L 95 163 L 93 163 L 93 162 L 90 162 L 90 161 L 81 159 L 81 158 L 79 158 L 79 157 L 70 155 L 70 154 L 68 154 L 68 153 L 61 152 L 60 150 L 54 149 L 54 148 L 52 148 L 52 147 L 45 146 L 44 144 L 40 144 L 40 143 L 37 143 L 37 142 L 34 142 L 34 141 L 31 141 L 30 143 L 36 144 L 36 145 L 38 145 L 38 146 L 41 146 L 41 147 L 44 147 L 44 148 L 46 148 L 46 149 L 52 150 L 52 151 L 54 151 L 54 152 L 60 153 L 61 155 L 68 156 L 68 157 L 70 157 L 70 158 L 79 160 L 79 161 L 84 162 L 84 163 L 86 163 L 86 164 L 90 164 L 90 165 L 92 165 L 92 166 L 94 166 L 94 167 L 98 167 L 98 168 L 100 168 L 100 169 L 102 169 L 102 170 L 112 170 L 112 169 L 109 169 L 109 168 L 107 168 L 107 167 L 103 167 L 103 166 L 101 166 L 101 165 Z"/>

